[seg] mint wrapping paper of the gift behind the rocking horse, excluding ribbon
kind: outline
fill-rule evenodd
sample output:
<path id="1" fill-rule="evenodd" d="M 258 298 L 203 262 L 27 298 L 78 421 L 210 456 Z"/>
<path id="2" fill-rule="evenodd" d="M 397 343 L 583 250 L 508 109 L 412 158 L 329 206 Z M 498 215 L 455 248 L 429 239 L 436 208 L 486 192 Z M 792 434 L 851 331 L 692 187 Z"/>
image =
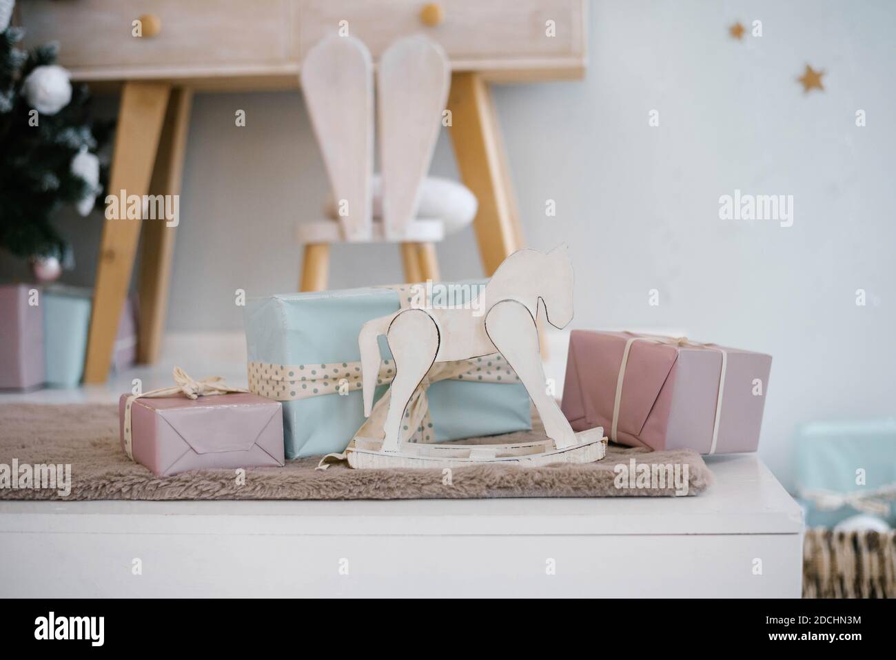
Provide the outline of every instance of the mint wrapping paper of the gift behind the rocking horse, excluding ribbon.
<path id="1" fill-rule="evenodd" d="M 249 299 L 247 358 L 250 364 L 284 367 L 357 362 L 361 326 L 397 311 L 399 295 L 370 287 Z M 392 360 L 383 337 L 380 346 L 383 360 Z M 377 387 L 375 399 L 387 388 Z M 518 382 L 446 379 L 429 386 L 426 395 L 435 442 L 531 429 L 529 394 Z M 365 421 L 360 390 L 283 401 L 282 406 L 287 458 L 341 452 Z"/>

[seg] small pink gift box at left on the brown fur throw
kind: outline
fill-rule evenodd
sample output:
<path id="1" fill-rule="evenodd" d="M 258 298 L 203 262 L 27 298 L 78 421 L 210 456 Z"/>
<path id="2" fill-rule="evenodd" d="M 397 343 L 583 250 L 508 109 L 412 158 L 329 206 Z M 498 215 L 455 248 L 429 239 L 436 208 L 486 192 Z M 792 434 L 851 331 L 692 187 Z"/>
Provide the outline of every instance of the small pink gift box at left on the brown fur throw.
<path id="1" fill-rule="evenodd" d="M 122 449 L 128 397 L 118 402 Z M 131 436 L 134 461 L 160 476 L 283 465 L 280 402 L 252 394 L 134 399 Z"/>

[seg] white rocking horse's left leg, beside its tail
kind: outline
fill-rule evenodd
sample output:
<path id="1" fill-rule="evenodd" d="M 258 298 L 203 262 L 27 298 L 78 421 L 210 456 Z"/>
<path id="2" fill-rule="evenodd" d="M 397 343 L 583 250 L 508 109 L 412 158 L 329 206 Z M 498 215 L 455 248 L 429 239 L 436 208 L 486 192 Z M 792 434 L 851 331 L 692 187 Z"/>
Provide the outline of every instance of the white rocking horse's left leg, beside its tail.
<path id="1" fill-rule="evenodd" d="M 390 387 L 383 451 L 398 451 L 405 408 L 410 395 L 433 366 L 439 350 L 439 331 L 423 309 L 408 309 L 395 317 L 386 338 L 395 359 L 395 378 Z"/>

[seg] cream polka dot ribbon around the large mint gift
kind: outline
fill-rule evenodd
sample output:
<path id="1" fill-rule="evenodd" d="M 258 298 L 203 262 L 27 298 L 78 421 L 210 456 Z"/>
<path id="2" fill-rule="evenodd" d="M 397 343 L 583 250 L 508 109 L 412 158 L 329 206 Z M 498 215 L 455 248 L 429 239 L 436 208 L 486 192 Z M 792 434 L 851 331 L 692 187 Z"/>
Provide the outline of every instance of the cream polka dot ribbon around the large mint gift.
<path id="1" fill-rule="evenodd" d="M 383 360 L 376 384 L 386 385 L 394 377 L 394 361 Z M 500 353 L 470 360 L 436 362 L 410 396 L 401 427 L 402 442 L 434 441 L 426 389 L 433 383 L 446 379 L 477 383 L 517 383 L 520 380 Z M 351 391 L 360 389 L 360 362 L 298 365 L 249 362 L 249 391 L 277 401 L 299 401 L 322 395 L 348 395 Z M 383 439 L 391 394 L 392 390 L 387 390 L 376 402 L 370 417 L 355 434 L 356 438 Z"/>

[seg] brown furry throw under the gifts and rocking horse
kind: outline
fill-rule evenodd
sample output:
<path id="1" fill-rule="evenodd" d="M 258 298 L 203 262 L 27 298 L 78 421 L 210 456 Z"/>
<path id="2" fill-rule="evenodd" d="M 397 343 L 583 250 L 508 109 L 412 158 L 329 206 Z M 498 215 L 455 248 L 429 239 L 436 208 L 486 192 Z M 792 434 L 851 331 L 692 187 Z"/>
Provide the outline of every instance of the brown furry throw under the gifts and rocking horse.
<path id="1" fill-rule="evenodd" d="M 501 441 L 544 438 L 538 429 L 502 436 Z M 672 488 L 618 489 L 617 464 L 688 466 L 688 494 L 704 491 L 712 475 L 691 451 L 645 453 L 610 446 L 590 465 L 522 468 L 475 465 L 455 469 L 451 484 L 441 470 L 351 470 L 333 465 L 315 471 L 317 458 L 288 461 L 282 468 L 250 468 L 246 482 L 233 470 L 202 470 L 157 477 L 132 463 L 118 444 L 115 404 L 0 405 L 0 464 L 71 464 L 71 493 L 65 499 L 459 499 L 669 496 Z M 60 499 L 55 490 L 0 488 L 0 499 Z"/>

